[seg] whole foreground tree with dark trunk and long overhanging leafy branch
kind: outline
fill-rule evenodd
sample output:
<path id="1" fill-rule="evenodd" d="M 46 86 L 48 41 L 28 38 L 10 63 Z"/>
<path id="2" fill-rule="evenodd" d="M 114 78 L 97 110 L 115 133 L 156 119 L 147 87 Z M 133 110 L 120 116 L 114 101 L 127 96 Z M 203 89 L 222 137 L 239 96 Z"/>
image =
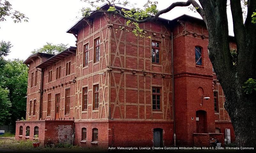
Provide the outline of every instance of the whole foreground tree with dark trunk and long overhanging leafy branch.
<path id="1" fill-rule="evenodd" d="M 105 0 L 84 0 L 95 7 L 96 2 Z M 256 78 L 256 24 L 255 10 L 256 0 L 188 0 L 175 2 L 166 9 L 157 10 L 157 2 L 148 1 L 144 9 L 133 8 L 130 11 L 118 10 L 115 4 L 128 4 L 128 2 L 116 2 L 106 0 L 112 13 L 116 13 L 136 25 L 133 31 L 140 34 L 137 23 L 156 21 L 159 15 L 171 11 L 173 8 L 192 5 L 203 18 L 209 32 L 209 58 L 216 72 L 218 80 L 226 96 L 224 103 L 232 121 L 236 142 L 240 147 L 256 147 L 256 92 L 247 88 L 253 86 Z M 243 5 L 247 6 L 247 17 L 243 18 Z M 229 48 L 229 29 L 227 4 L 230 4 L 234 38 L 237 44 L 236 61 Z M 83 14 L 89 15 L 90 9 L 82 9 Z M 97 7 L 96 11 L 99 10 Z M 153 15 L 153 16 L 152 16 Z M 248 80 L 251 78 L 250 80 Z M 248 81 L 247 81 L 248 80 Z M 245 92 L 245 91 L 252 92 Z"/>

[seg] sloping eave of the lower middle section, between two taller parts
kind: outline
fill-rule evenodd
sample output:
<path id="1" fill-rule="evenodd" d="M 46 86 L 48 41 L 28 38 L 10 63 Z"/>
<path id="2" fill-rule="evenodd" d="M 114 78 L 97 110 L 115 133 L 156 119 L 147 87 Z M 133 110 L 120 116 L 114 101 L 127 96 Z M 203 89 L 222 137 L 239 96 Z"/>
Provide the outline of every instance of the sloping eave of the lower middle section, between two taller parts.
<path id="1" fill-rule="evenodd" d="M 49 58 L 48 60 L 44 61 L 43 63 L 39 64 L 37 66 L 37 68 L 46 68 L 50 65 L 52 65 L 55 62 L 58 62 L 59 60 L 72 55 L 72 54 L 76 54 L 76 47 L 70 46 L 69 48 L 65 49 L 64 51 L 60 52 L 59 54 L 56 54 L 54 56 L 52 56 L 51 58 Z"/>

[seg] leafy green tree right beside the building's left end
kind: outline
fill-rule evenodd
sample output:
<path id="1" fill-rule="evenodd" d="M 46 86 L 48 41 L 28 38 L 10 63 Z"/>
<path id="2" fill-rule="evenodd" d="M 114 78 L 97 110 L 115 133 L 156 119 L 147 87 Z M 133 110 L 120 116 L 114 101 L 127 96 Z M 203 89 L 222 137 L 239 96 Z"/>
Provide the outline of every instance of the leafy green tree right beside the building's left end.
<path id="1" fill-rule="evenodd" d="M 27 77 L 28 68 L 22 60 L 6 61 L 3 73 L 0 74 L 0 87 L 9 91 L 8 99 L 12 105 L 9 110 L 11 120 L 7 124 L 15 125 L 16 120 L 26 117 Z"/>

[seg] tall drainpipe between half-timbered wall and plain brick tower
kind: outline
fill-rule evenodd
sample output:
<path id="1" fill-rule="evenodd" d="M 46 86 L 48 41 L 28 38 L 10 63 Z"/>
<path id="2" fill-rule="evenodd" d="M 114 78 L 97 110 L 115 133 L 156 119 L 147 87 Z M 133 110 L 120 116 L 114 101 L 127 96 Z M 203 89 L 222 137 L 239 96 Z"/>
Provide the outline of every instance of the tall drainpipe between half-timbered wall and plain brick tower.
<path id="1" fill-rule="evenodd" d="M 173 138 L 174 138 L 174 146 L 176 146 L 176 134 L 175 134 L 175 103 L 174 103 L 174 70 L 173 70 L 173 33 L 172 33 L 172 96 L 173 96 L 173 129 L 174 129 L 174 135 L 173 135 Z"/>

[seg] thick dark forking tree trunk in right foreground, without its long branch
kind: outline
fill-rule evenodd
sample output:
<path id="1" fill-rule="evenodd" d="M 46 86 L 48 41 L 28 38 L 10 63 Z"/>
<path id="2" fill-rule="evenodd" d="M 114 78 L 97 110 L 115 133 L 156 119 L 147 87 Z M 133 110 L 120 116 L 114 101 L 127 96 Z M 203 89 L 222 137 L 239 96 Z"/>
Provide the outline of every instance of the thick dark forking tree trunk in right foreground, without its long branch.
<path id="1" fill-rule="evenodd" d="M 256 95 L 246 95 L 242 86 L 249 78 L 256 77 L 256 26 L 246 26 L 240 1 L 230 0 L 238 56 L 234 65 L 229 48 L 227 0 L 199 2 L 209 32 L 209 58 L 225 93 L 224 106 L 233 124 L 236 143 L 238 147 L 255 148 Z"/>

